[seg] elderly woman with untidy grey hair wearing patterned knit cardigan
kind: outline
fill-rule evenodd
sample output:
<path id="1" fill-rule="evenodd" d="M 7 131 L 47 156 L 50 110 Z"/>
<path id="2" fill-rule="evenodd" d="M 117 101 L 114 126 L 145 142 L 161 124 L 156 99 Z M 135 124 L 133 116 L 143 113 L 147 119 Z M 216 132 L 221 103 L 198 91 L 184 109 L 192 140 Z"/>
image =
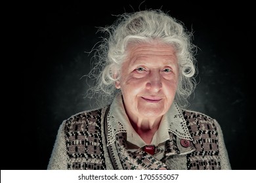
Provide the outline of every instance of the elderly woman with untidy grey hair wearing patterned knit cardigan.
<path id="1" fill-rule="evenodd" d="M 186 110 L 191 33 L 161 10 L 118 16 L 96 50 L 101 107 L 64 120 L 47 169 L 231 169 L 217 121 Z"/>

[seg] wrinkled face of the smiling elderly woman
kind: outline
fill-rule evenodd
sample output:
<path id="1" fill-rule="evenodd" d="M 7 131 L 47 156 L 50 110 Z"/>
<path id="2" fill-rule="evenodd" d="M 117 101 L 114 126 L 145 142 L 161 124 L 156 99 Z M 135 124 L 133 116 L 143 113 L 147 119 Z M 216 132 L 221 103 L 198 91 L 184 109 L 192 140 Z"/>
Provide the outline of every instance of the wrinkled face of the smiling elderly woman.
<path id="1" fill-rule="evenodd" d="M 173 103 L 179 66 L 172 46 L 161 43 L 133 44 L 116 82 L 132 120 L 160 118 Z"/>

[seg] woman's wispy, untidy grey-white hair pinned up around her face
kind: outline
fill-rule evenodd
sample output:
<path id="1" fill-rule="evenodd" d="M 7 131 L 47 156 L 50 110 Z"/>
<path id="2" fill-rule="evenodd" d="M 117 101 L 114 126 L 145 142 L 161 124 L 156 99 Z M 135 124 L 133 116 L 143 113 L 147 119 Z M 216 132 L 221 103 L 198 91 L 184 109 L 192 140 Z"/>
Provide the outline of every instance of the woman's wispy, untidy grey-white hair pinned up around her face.
<path id="1" fill-rule="evenodd" d="M 115 71 L 120 71 L 125 60 L 125 48 L 131 42 L 161 41 L 171 44 L 179 63 L 179 84 L 175 102 L 179 107 L 188 106 L 188 98 L 196 88 L 196 46 L 192 44 L 192 32 L 182 22 L 161 10 L 142 10 L 117 16 L 116 22 L 98 31 L 105 33 L 95 48 L 95 65 L 87 75 L 95 80 L 87 90 L 87 97 L 96 99 L 99 106 L 109 105 L 119 90 L 115 87 Z"/>

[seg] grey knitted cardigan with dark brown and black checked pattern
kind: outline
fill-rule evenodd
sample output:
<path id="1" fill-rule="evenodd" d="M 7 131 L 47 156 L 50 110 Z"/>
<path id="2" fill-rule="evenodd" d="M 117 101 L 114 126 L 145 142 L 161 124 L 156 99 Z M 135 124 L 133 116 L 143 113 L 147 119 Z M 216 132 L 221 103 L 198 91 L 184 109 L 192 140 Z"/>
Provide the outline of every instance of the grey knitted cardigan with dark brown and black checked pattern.
<path id="1" fill-rule="evenodd" d="M 231 169 L 223 133 L 216 120 L 190 110 L 181 110 L 192 141 L 169 133 L 164 157 L 160 160 L 142 150 L 129 152 L 125 133 L 107 146 L 109 107 L 87 110 L 64 120 L 58 129 L 47 169 Z"/>

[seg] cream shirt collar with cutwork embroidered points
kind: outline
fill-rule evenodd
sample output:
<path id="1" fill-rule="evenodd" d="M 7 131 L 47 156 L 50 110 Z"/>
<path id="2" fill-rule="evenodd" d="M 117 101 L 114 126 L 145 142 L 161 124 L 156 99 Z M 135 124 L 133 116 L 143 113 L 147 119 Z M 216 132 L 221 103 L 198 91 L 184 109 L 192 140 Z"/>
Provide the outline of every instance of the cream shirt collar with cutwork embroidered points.
<path id="1" fill-rule="evenodd" d="M 127 141 L 131 141 L 132 135 L 137 135 L 136 139 L 140 139 L 139 135 L 135 132 L 129 122 L 123 102 L 121 99 L 121 93 L 118 93 L 114 98 L 114 101 L 110 105 L 110 111 L 107 116 L 108 120 L 108 143 L 107 146 L 115 141 L 115 137 L 118 133 L 127 133 Z M 186 127 L 186 121 L 181 113 L 181 109 L 177 107 L 175 103 L 171 105 L 166 114 L 161 119 L 161 124 L 153 137 L 152 142 L 158 145 L 160 142 L 169 139 L 169 132 L 174 133 L 181 139 L 192 140 L 188 127 Z M 144 141 L 140 139 L 136 141 L 137 146 L 144 146 Z"/>

